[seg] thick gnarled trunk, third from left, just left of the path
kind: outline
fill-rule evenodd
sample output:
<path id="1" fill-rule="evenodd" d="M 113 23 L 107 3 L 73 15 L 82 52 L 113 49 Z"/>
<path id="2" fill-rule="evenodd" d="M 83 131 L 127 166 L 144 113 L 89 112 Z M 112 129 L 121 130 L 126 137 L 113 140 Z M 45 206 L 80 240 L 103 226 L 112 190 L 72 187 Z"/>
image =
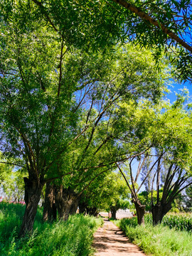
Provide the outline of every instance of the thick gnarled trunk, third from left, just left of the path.
<path id="1" fill-rule="evenodd" d="M 59 218 L 68 220 L 69 215 L 76 213 L 78 203 L 78 194 L 70 188 L 64 189 L 63 186 L 60 186 L 55 194 L 55 204 L 58 209 Z"/>

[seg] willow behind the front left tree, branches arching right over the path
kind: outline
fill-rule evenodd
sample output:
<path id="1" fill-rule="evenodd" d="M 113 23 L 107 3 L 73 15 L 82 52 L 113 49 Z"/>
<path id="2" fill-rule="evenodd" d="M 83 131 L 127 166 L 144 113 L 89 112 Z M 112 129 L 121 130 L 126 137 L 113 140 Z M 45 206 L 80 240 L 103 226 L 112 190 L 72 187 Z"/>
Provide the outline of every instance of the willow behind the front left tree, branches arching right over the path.
<path id="1" fill-rule="evenodd" d="M 70 206 L 78 206 L 82 192 L 98 175 L 115 169 L 115 163 L 129 159 L 130 154 L 137 154 L 137 146 L 132 144 L 135 138 L 134 143 L 140 144 L 140 138 L 134 134 L 137 122 L 129 118 L 126 124 L 122 122 L 120 114 L 124 110 L 119 110 L 120 102 L 129 105 L 134 112 L 139 98 L 147 97 L 149 102 L 154 102 L 161 97 L 165 74 L 157 73 L 148 51 L 138 53 L 137 48 L 127 46 L 108 58 L 107 73 L 87 84 L 81 94 L 75 94 L 76 105 L 81 110 L 77 129 L 79 133 L 84 132 L 60 159 L 61 169 L 73 170 L 73 176 L 65 178 L 63 183 L 60 181 L 60 188 L 55 190 L 59 192 L 55 203 L 58 202 L 60 218 L 68 218 L 68 213 L 72 212 Z M 126 149 L 121 144 L 122 137 L 130 139 Z M 53 193 L 53 186 L 47 194 Z M 65 215 L 65 212 L 68 213 Z M 45 220 L 48 215 L 46 210 Z"/>

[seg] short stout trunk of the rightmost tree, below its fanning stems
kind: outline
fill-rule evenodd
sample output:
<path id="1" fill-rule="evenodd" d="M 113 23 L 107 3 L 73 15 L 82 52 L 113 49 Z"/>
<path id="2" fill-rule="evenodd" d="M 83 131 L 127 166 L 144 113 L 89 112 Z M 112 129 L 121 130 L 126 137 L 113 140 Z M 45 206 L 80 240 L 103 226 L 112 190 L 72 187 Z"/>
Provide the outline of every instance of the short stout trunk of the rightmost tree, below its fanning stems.
<path id="1" fill-rule="evenodd" d="M 151 207 L 151 212 L 153 216 L 153 225 L 161 223 L 164 215 L 171 210 L 171 204 L 163 204 L 161 202 L 156 203 L 155 206 Z"/>

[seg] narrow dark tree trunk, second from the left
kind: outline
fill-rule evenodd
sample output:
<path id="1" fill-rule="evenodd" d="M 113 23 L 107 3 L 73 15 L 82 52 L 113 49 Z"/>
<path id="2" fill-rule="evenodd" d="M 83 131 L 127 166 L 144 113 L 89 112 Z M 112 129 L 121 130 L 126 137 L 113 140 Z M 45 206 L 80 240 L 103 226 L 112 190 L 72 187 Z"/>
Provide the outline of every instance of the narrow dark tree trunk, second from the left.
<path id="1" fill-rule="evenodd" d="M 43 221 L 52 222 L 57 218 L 57 208 L 55 206 L 55 186 L 50 182 L 46 183 L 46 196 L 43 206 Z"/>

